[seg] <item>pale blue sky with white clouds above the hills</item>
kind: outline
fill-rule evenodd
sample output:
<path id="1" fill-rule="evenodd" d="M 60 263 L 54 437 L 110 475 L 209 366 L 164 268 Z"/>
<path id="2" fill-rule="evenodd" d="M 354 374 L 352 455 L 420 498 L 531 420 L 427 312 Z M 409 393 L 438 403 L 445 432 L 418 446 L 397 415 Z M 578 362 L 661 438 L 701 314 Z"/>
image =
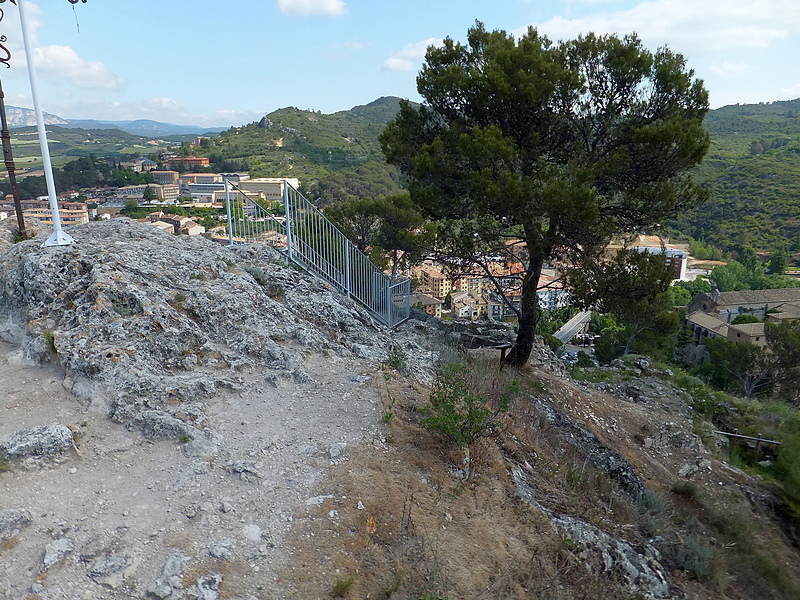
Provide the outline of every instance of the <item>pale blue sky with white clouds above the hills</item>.
<path id="1" fill-rule="evenodd" d="M 712 108 L 800 97 L 800 0 L 18 0 L 44 111 L 238 126 L 278 108 L 420 101 L 425 50 L 481 21 L 552 40 L 636 32 L 703 79 Z M 6 104 L 33 107 L 18 8 L 0 4 Z M 3 56 L 0 53 L 0 57 Z"/>

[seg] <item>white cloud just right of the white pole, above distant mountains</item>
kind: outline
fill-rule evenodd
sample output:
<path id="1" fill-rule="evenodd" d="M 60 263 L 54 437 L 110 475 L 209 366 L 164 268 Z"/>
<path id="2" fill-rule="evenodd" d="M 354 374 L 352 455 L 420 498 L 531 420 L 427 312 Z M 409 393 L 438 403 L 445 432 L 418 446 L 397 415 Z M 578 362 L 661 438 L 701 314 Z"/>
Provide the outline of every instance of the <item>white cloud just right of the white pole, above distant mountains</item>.
<path id="1" fill-rule="evenodd" d="M 44 46 L 33 51 L 39 73 L 57 77 L 87 90 L 119 90 L 125 80 L 103 63 L 87 61 L 69 46 Z"/>

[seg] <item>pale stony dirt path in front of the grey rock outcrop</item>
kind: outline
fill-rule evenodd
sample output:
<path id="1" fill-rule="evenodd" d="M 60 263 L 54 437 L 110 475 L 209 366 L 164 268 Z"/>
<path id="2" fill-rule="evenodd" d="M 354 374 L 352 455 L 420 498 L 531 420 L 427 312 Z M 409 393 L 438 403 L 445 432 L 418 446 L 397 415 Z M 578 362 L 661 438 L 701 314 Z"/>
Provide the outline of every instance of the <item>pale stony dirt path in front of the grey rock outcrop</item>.
<path id="1" fill-rule="evenodd" d="M 294 515 L 321 502 L 314 486 L 348 448 L 382 444 L 373 366 L 313 355 L 304 368 L 312 382 L 244 374 L 244 391 L 205 403 L 217 443 L 182 444 L 111 422 L 0 343 L 0 437 L 61 423 L 78 448 L 0 472 L 0 511 L 32 518 L 0 543 L 0 598 L 285 597 Z"/>

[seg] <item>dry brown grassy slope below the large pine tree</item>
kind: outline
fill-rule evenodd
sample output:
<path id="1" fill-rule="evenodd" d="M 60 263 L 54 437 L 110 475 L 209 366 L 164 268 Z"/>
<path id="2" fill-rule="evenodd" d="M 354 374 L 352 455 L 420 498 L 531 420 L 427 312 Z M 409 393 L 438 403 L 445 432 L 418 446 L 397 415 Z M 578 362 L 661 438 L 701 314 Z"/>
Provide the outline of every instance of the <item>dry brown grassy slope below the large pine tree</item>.
<path id="1" fill-rule="evenodd" d="M 476 368 L 495 377 L 490 368 L 494 363 Z M 676 465 L 646 452 L 641 441 L 642 432 L 646 435 L 655 427 L 653 420 L 664 415 L 648 420 L 641 406 L 601 394 L 589 397 L 541 373 L 512 371 L 504 376 L 522 376 L 525 393 L 504 417 L 502 433 L 472 446 L 468 479 L 455 474 L 463 454 L 419 426 L 428 390 L 397 375 L 379 380 L 393 414 L 383 424 L 388 445 L 354 449 L 324 484 L 334 498 L 297 515 L 292 560 L 281 574 L 289 584 L 287 598 L 327 598 L 345 580 L 349 583 L 341 589 L 343 598 L 631 598 L 613 574 L 588 571 L 549 518 L 518 499 L 509 461 L 526 465 L 537 499 L 554 512 L 583 519 L 634 546 L 658 530 L 665 548 L 675 550 L 668 565 L 674 583 L 698 600 L 737 597 L 728 595 L 730 590 L 741 598 L 766 597 L 757 595 L 758 585 L 747 584 L 745 578 L 775 590 L 770 597 L 795 597 L 797 553 L 779 540 L 773 525 L 743 510 L 747 501 L 741 492 L 731 492 L 731 480 L 713 473 L 714 485 L 700 481 L 702 493 L 688 503 L 670 494 Z M 531 394 L 547 397 L 586 422 L 599 439 L 622 453 L 655 492 L 649 503 L 637 503 L 565 445 L 525 400 Z M 726 490 L 724 502 L 714 486 Z M 718 510 L 710 508 L 715 505 Z M 750 524 L 732 526 L 741 519 Z M 745 549 L 755 556 L 747 568 L 742 566 L 745 553 L 737 548 L 744 542 L 732 537 L 737 530 L 758 532 Z M 760 566 L 753 564 L 758 561 Z M 775 573 L 778 564 L 780 573 Z"/>

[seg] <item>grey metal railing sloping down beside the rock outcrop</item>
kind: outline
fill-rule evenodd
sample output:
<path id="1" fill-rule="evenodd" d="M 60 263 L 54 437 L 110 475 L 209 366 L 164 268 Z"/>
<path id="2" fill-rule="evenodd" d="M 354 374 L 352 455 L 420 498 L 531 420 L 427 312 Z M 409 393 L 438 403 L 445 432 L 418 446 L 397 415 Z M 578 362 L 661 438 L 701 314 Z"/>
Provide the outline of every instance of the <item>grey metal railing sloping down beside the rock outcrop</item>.
<path id="1" fill-rule="evenodd" d="M 411 281 L 381 271 L 287 181 L 283 182 L 282 203 L 271 205 L 252 199 L 227 179 L 225 182 L 231 245 L 270 244 L 288 260 L 363 304 L 383 325 L 394 327 L 408 319 Z M 279 212 L 283 215 L 276 214 Z"/>

